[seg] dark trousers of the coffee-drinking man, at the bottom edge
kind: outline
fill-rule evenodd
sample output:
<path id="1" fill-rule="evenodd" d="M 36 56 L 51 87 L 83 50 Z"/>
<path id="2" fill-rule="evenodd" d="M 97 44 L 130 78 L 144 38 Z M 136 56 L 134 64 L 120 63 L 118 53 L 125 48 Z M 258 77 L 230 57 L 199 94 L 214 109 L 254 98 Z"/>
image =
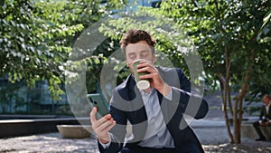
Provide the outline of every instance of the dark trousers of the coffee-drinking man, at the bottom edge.
<path id="1" fill-rule="evenodd" d="M 201 153 L 199 148 L 188 145 L 185 148 L 143 148 L 140 146 L 122 148 L 121 153 Z"/>

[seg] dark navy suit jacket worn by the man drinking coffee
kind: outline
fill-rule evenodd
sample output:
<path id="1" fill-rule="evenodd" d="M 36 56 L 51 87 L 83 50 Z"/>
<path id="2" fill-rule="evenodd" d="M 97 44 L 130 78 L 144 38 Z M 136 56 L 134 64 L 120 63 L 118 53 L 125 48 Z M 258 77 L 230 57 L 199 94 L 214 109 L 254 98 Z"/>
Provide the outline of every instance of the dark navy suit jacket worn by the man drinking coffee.
<path id="1" fill-rule="evenodd" d="M 157 67 L 164 81 L 172 86 L 173 100 L 167 100 L 157 91 L 159 103 L 166 127 L 171 133 L 176 148 L 189 151 L 201 148 L 201 143 L 186 121 L 183 113 L 194 119 L 204 118 L 209 110 L 206 100 L 191 91 L 191 82 L 181 69 Z M 192 94 L 191 94 L 192 93 Z M 129 75 L 123 83 L 117 86 L 110 101 L 110 114 L 117 125 L 110 130 L 112 142 L 107 149 L 98 144 L 100 152 L 117 153 L 124 146 L 127 120 L 132 125 L 134 137 L 126 142 L 126 147 L 133 147 L 145 138 L 147 116 L 140 91 L 135 87 L 134 76 Z M 120 143 L 117 143 L 120 142 Z"/>

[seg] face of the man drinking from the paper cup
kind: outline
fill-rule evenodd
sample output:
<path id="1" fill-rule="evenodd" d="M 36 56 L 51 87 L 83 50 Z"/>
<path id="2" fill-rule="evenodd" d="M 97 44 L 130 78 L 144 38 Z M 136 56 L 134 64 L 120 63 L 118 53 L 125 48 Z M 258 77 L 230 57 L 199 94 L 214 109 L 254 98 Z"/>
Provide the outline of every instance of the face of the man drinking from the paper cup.
<path id="1" fill-rule="evenodd" d="M 128 43 L 126 46 L 126 65 L 129 67 L 132 74 L 134 74 L 132 63 L 138 59 L 150 62 L 154 62 L 155 60 L 155 54 L 152 53 L 152 46 L 148 45 L 145 41 Z"/>

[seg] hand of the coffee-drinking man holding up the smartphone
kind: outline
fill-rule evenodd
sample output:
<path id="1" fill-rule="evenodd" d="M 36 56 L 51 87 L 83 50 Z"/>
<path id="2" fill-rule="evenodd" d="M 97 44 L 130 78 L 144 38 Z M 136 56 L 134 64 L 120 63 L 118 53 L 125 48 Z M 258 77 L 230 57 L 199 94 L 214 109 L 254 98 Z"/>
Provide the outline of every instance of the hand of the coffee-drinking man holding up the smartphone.
<path id="1" fill-rule="evenodd" d="M 108 131 L 116 125 L 116 121 L 111 117 L 110 114 L 102 117 L 101 119 L 96 119 L 96 113 L 98 109 L 94 107 L 90 112 L 90 121 L 92 124 L 92 129 L 97 135 L 97 138 L 100 142 L 106 144 L 109 142 Z"/>

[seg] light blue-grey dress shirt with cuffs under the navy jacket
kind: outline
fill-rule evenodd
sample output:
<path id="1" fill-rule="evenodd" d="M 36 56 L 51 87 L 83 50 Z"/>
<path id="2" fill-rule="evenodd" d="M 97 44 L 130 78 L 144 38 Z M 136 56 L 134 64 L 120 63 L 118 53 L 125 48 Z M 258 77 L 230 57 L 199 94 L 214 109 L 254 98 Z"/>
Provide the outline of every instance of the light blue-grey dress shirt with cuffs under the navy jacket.
<path id="1" fill-rule="evenodd" d="M 164 117 L 160 108 L 157 91 L 153 88 L 150 93 L 140 91 L 145 104 L 148 126 L 143 139 L 138 145 L 148 148 L 174 148 L 173 137 L 164 123 Z M 166 99 L 173 99 L 173 91 L 170 88 L 170 93 L 165 96 Z M 108 148 L 111 144 L 111 136 L 109 133 L 109 142 L 103 144 L 98 141 L 103 148 Z"/>

